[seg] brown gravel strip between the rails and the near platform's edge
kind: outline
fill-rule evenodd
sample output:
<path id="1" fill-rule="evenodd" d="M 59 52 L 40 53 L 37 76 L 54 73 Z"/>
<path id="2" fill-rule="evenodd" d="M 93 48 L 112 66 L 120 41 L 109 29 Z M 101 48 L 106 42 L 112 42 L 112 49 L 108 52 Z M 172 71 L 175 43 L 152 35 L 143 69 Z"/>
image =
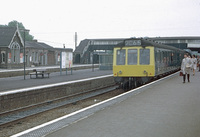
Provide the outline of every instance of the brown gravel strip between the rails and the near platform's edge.
<path id="1" fill-rule="evenodd" d="M 45 113 L 38 114 L 36 116 L 32 116 L 21 121 L 17 121 L 12 125 L 6 125 L 0 127 L 0 136 L 1 137 L 8 137 L 14 135 L 16 133 L 22 132 L 29 128 L 35 127 L 37 125 L 46 123 L 48 121 L 54 120 L 56 118 L 62 117 L 64 115 L 70 114 L 82 108 L 88 107 L 95 103 L 99 103 L 116 95 L 124 93 L 122 89 L 117 89 L 109 93 L 105 93 L 96 97 L 92 97 L 83 101 L 79 101 L 76 104 L 66 105 L 57 109 L 53 109 L 47 111 Z"/>

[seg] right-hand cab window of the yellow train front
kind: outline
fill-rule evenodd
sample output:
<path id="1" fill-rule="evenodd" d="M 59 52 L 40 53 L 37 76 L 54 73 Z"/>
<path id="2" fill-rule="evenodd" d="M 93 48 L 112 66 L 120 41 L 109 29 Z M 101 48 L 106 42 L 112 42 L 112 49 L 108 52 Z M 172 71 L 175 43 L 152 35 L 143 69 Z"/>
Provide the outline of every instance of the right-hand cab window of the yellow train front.
<path id="1" fill-rule="evenodd" d="M 140 49 L 140 64 L 149 65 L 150 64 L 150 50 Z"/>

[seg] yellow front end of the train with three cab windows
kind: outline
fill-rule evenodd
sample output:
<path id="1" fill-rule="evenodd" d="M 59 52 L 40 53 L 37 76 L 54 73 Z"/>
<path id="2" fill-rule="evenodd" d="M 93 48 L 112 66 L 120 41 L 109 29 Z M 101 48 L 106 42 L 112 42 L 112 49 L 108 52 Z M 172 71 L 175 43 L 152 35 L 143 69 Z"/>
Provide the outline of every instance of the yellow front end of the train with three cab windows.
<path id="1" fill-rule="evenodd" d="M 154 47 L 116 47 L 113 55 L 113 76 L 115 78 L 155 76 Z"/>

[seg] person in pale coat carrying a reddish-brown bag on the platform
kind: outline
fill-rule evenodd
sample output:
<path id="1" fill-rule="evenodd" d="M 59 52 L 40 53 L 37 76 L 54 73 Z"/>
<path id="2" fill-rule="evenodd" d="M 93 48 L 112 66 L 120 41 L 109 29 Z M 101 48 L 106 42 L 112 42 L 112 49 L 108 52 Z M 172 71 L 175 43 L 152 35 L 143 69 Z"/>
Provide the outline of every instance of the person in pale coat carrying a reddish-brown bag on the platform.
<path id="1" fill-rule="evenodd" d="M 185 83 L 186 75 L 187 75 L 187 80 L 190 82 L 190 69 L 192 67 L 192 61 L 188 57 L 187 54 L 184 54 L 184 59 L 182 60 L 181 63 L 181 71 L 183 72 L 183 83 Z"/>

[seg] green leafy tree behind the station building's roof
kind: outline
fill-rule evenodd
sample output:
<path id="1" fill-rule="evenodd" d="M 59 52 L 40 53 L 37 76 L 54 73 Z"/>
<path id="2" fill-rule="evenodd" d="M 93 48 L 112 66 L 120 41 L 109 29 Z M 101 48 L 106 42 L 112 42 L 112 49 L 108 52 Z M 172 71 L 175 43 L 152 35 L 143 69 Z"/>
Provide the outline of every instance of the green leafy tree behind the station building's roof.
<path id="1" fill-rule="evenodd" d="M 16 20 L 9 22 L 7 26 L 8 27 L 16 27 L 17 24 L 18 24 L 19 29 L 26 29 L 21 22 L 18 22 Z M 6 26 L 6 25 L 2 25 L 2 26 Z M 22 38 L 24 38 L 24 32 L 20 31 L 20 34 L 21 34 Z M 29 32 L 25 31 L 25 40 L 31 41 L 33 39 L 34 39 L 34 36 L 30 35 Z"/>

